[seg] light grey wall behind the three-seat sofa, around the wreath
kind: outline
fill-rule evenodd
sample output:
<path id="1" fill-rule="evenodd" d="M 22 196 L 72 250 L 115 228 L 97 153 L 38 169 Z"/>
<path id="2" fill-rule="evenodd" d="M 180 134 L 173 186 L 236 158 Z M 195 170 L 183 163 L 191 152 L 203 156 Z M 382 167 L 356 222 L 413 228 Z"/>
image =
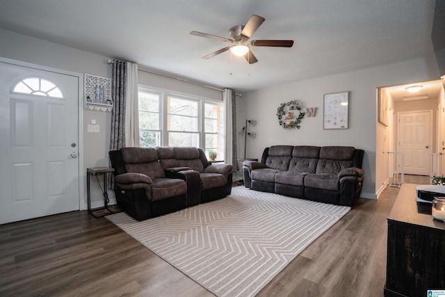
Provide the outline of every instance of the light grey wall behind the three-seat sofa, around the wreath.
<path id="1" fill-rule="evenodd" d="M 273 74 L 271 74 L 273 75 Z M 352 145 L 365 150 L 362 197 L 377 198 L 377 191 L 385 175 L 381 163 L 376 163 L 377 139 L 381 141 L 386 129 L 377 129 L 375 89 L 439 78 L 434 56 L 403 63 L 394 63 L 366 70 L 348 72 L 296 81 L 280 86 L 254 90 L 243 94 L 245 110 L 238 118 L 257 120 L 257 138 L 248 139 L 248 156 L 261 158 L 270 145 Z M 350 91 L 349 129 L 323 130 L 323 95 Z M 277 108 L 282 102 L 296 99 L 303 109 L 318 107 L 316 117 L 304 118 L 300 129 L 284 129 L 278 125 Z M 243 121 L 238 122 L 238 130 Z M 241 140 L 241 137 L 238 137 Z M 241 141 L 241 143 L 243 140 Z M 239 147 L 239 146 L 238 146 Z M 379 181 L 376 183 L 376 181 Z"/>

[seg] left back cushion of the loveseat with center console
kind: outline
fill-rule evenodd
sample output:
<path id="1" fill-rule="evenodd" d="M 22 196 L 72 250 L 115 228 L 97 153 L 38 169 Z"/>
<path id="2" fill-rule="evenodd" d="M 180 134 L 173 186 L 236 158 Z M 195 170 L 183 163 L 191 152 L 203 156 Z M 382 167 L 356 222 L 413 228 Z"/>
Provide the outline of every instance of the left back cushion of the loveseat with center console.
<path id="1" fill-rule="evenodd" d="M 120 150 L 127 172 L 143 173 L 152 179 L 165 177 L 154 147 L 122 147 Z"/>

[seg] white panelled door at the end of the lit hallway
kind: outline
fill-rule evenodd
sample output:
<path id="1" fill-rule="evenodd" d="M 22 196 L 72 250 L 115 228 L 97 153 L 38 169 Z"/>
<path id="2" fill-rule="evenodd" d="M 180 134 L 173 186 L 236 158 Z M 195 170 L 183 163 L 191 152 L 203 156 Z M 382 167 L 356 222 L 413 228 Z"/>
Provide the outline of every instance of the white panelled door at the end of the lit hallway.
<path id="1" fill-rule="evenodd" d="M 398 152 L 404 156 L 405 174 L 430 174 L 431 129 L 432 111 L 398 113 Z"/>

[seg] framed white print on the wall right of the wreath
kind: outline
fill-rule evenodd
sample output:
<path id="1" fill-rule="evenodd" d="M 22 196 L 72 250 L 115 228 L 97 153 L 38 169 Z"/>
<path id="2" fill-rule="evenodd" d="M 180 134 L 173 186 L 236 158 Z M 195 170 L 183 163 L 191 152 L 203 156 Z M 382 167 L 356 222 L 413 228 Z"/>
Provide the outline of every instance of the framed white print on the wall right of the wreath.
<path id="1" fill-rule="evenodd" d="M 323 129 L 349 128 L 349 92 L 325 94 Z"/>

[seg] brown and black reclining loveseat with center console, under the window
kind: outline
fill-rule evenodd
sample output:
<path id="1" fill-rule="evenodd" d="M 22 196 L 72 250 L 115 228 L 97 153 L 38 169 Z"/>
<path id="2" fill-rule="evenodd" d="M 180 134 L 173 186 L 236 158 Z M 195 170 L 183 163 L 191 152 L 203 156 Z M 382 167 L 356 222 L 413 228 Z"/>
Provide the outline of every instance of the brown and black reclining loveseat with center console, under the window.
<path id="1" fill-rule="evenodd" d="M 109 152 L 118 205 L 145 220 L 229 195 L 233 166 L 197 147 L 122 147 Z"/>

